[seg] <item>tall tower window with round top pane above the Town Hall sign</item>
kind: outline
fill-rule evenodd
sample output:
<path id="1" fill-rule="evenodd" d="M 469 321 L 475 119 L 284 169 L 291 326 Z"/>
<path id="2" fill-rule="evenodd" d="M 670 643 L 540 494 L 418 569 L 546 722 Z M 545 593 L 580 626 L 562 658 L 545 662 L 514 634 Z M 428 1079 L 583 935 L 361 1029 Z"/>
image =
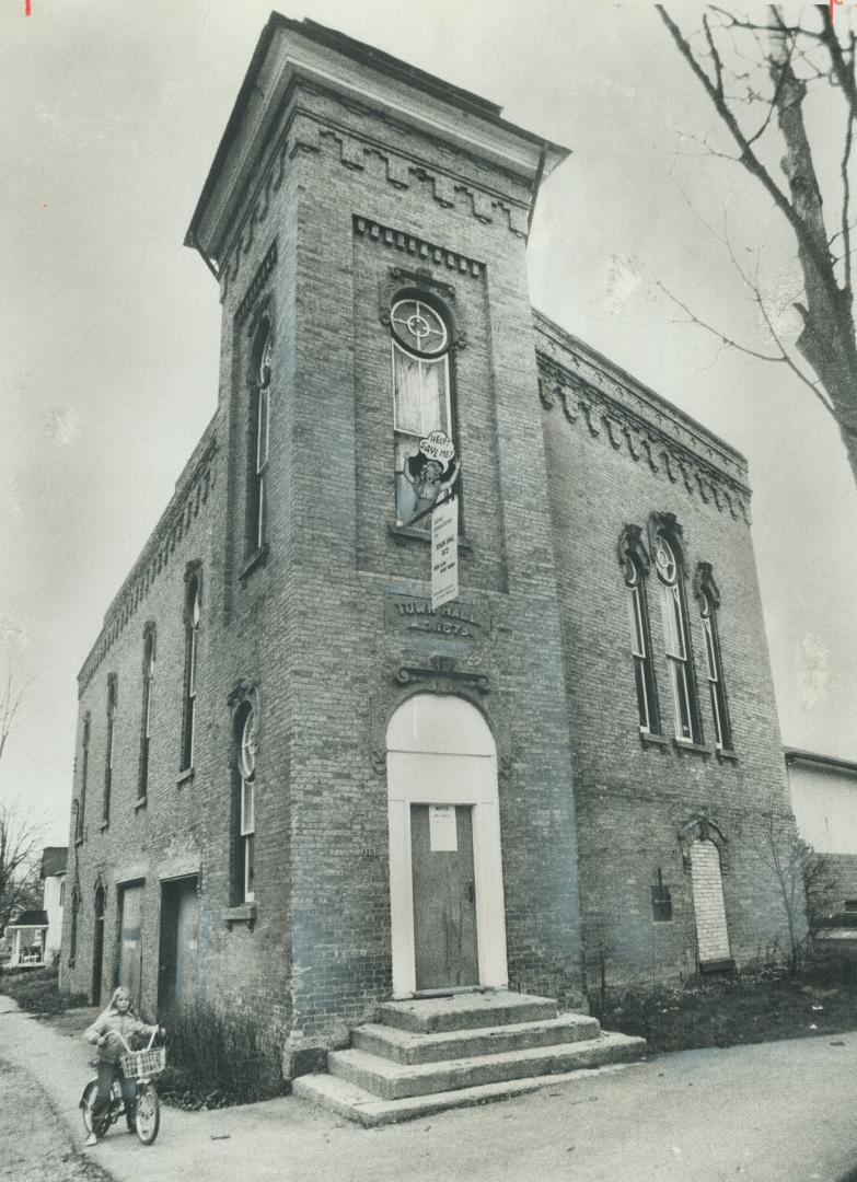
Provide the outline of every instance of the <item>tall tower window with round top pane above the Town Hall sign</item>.
<path id="1" fill-rule="evenodd" d="M 420 440 L 442 431 L 454 441 L 449 390 L 449 327 L 422 298 L 396 299 L 392 335 L 396 524 L 428 528 L 431 506 L 452 488 L 457 462 L 420 450 Z"/>

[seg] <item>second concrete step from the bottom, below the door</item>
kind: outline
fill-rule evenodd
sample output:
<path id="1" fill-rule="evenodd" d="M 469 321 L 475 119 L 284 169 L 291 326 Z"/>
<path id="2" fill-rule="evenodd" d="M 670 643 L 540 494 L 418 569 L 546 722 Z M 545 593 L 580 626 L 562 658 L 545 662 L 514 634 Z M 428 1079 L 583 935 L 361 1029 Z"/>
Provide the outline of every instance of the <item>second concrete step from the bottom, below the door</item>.
<path id="1" fill-rule="evenodd" d="M 580 1067 L 599 1067 L 639 1057 L 644 1051 L 645 1040 L 628 1034 L 600 1034 L 583 1043 L 415 1065 L 391 1063 L 355 1048 L 331 1052 L 327 1070 L 331 1076 L 356 1084 L 381 1099 L 398 1100 L 532 1076 L 552 1076 Z"/>

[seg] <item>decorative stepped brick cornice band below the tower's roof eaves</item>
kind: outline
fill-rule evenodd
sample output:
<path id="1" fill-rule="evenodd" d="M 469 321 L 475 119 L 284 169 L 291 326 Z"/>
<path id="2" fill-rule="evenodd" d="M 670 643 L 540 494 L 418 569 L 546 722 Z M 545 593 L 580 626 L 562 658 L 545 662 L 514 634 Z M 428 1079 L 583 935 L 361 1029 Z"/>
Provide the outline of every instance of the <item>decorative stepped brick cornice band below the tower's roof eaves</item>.
<path id="1" fill-rule="evenodd" d="M 517 238 L 527 238 L 526 202 L 511 201 L 499 191 L 474 184 L 468 177 L 441 171 L 426 160 L 397 154 L 381 141 L 358 136 L 332 119 L 294 106 L 275 147 L 247 186 L 241 202 L 245 212 L 223 251 L 221 299 L 226 298 L 227 290 L 236 280 L 242 261 L 255 241 L 258 227 L 267 219 L 272 197 L 283 186 L 290 161 L 298 152 L 331 150 L 342 167 L 350 171 L 383 169 L 384 178 L 395 189 L 407 189 L 415 183 L 427 184 L 433 200 L 443 208 L 463 210 L 485 225 L 502 225 Z"/>

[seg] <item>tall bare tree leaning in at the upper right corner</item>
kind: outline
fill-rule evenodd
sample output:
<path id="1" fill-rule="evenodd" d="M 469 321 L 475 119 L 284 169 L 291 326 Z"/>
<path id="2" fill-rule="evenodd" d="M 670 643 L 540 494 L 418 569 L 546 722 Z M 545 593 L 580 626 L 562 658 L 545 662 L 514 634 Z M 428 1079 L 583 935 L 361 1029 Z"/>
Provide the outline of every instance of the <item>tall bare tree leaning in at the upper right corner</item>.
<path id="1" fill-rule="evenodd" d="M 783 338 L 766 307 L 758 273 L 748 275 L 734 252 L 733 261 L 765 324 L 765 351 L 722 333 L 686 303 L 671 298 L 723 345 L 792 370 L 836 420 L 857 482 L 857 343 L 851 282 L 855 223 L 850 210 L 857 35 L 842 9 L 833 18 L 833 5 L 801 9 L 797 24 L 786 22 L 777 6 L 770 6 L 758 22 L 712 6 L 701 28 L 689 35 L 662 5 L 657 11 L 734 144 L 734 152 L 722 152 L 706 137 L 706 149 L 745 169 L 792 232 L 803 279 L 803 292 L 792 303 L 803 327 L 794 346 Z M 838 169 L 825 170 L 820 145 L 811 142 L 805 104 L 813 87 L 825 87 L 829 93 L 826 125 L 842 124 Z M 767 163 L 775 152 L 781 155 L 785 184 Z M 833 210 L 827 221 L 825 208 Z"/>

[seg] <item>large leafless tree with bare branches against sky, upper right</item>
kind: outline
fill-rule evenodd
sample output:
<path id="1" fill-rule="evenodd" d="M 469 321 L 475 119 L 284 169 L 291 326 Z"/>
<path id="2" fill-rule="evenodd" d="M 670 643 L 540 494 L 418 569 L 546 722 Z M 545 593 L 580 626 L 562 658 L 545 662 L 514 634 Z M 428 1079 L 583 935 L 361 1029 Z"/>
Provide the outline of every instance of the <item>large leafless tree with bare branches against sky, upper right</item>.
<path id="1" fill-rule="evenodd" d="M 686 37 L 679 24 L 662 6 L 657 11 L 667 26 L 679 53 L 690 67 L 696 80 L 708 96 L 718 117 L 728 130 L 739 149 L 736 163 L 753 180 L 759 182 L 761 195 L 767 195 L 777 212 L 791 228 L 800 272 L 804 280 L 801 299 L 794 301 L 794 307 L 803 319 L 803 331 L 794 343 L 797 352 L 812 368 L 818 378 L 818 385 L 806 379 L 803 371 L 790 358 L 780 342 L 780 356 L 768 357 L 768 361 L 785 361 L 792 371 L 831 411 L 842 434 L 849 461 L 857 481 L 857 340 L 853 323 L 853 292 L 851 290 L 851 230 L 850 214 L 850 162 L 853 122 L 857 118 L 855 102 L 855 35 L 843 20 L 838 28 L 833 27 L 831 11 L 824 7 L 816 9 L 817 28 L 806 30 L 801 21 L 788 22 L 779 8 L 768 8 L 767 25 L 764 26 L 766 40 L 760 43 L 755 37 L 760 26 L 733 17 L 721 8 L 716 15 L 721 18 L 713 27 L 708 14 L 702 17 L 705 40 L 694 47 L 692 39 Z M 715 28 L 720 31 L 716 35 Z M 770 91 L 762 93 L 762 87 L 755 89 L 751 82 L 747 91 L 747 108 L 761 105 L 764 115 L 755 131 L 746 130 L 746 110 L 741 111 L 736 100 L 727 90 L 727 78 L 735 76 L 729 63 L 734 61 L 736 47 L 734 31 L 752 28 L 753 39 L 758 46 L 755 70 L 746 71 L 736 77 L 762 79 L 767 74 Z M 723 35 L 726 34 L 726 35 Z M 803 69 L 805 57 L 800 51 L 809 38 L 810 46 L 824 47 L 827 54 L 826 69 L 819 71 L 814 66 L 809 76 Z M 697 38 L 699 40 L 699 38 Z M 746 57 L 740 54 L 741 60 Z M 839 259 L 830 251 L 830 234 L 825 226 L 822 171 L 823 161 L 817 163 L 830 132 L 825 129 L 825 143 L 814 144 L 807 130 L 805 103 L 809 87 L 812 84 L 826 84 L 831 106 L 842 118 L 843 148 L 838 176 L 835 177 L 833 191 L 827 193 L 827 206 L 839 208 L 837 221 L 843 236 L 843 254 Z M 844 100 L 844 102 L 843 102 Z M 844 106 L 844 110 L 842 108 Z M 787 190 L 783 188 L 772 170 L 762 160 L 761 144 L 757 145 L 765 131 L 772 126 L 773 112 L 777 112 L 779 144 L 784 152 L 780 169 L 787 181 Z M 741 115 L 745 113 L 742 122 Z M 734 258 L 734 256 L 733 256 Z M 837 262 L 842 266 L 837 267 Z M 740 269 L 740 268 L 739 268 Z M 771 331 L 759 288 L 754 296 Z M 677 297 L 673 297 L 677 299 Z M 682 305 L 684 306 L 684 305 Z M 712 331 L 710 325 L 694 316 L 694 320 Z M 741 348 L 734 340 L 726 343 Z M 753 356 L 759 357 L 758 352 Z M 824 390 L 824 396 L 820 389 Z"/>

